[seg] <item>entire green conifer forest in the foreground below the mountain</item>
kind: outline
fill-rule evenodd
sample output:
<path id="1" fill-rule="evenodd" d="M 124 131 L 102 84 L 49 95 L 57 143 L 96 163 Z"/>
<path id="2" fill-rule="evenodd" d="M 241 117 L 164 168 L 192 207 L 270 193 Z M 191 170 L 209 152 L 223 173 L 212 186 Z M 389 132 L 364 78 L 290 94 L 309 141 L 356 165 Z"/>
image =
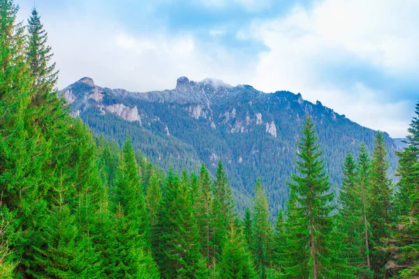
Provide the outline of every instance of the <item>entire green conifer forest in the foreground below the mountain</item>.
<path id="1" fill-rule="evenodd" d="M 333 184 L 319 121 L 300 115 L 272 211 L 261 179 L 237 200 L 226 160 L 182 171 L 128 130 L 92 132 L 59 94 L 38 10 L 18 13 L 0 0 L 0 278 L 419 278 L 419 103 L 394 175 L 378 132 Z"/>

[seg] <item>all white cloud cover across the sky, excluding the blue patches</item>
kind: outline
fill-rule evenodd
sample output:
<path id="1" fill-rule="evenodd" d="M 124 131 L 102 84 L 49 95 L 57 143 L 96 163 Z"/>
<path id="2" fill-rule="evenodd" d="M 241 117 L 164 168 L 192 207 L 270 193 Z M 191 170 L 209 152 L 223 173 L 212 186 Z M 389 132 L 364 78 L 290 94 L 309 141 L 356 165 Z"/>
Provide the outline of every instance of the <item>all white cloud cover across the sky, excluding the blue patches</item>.
<path id="1" fill-rule="evenodd" d="M 270 0 L 195 1 L 209 8 L 233 4 L 247 10 L 272 4 Z M 24 7 L 25 14 L 30 5 Z M 259 40 L 267 46 L 254 61 L 240 50 L 202 42 L 193 31 L 142 36 L 119 25 L 114 17 L 67 12 L 66 16 L 43 13 L 60 70 L 60 88 L 82 76 L 92 77 L 101 86 L 131 91 L 170 89 L 181 75 L 192 80 L 214 77 L 266 92 L 301 92 L 307 100 L 321 100 L 353 121 L 388 131 L 393 137 L 406 135 L 413 114 L 413 104 L 402 98 L 398 103 L 385 103 L 383 91 L 361 81 L 344 87 L 325 80 L 320 71 L 329 61 L 344 68 L 351 54 L 389 77 L 419 80 L 416 0 L 403 4 L 396 0 L 324 0 L 316 1 L 310 10 L 297 5 L 286 16 L 255 20 L 236 34 L 239 40 Z M 225 34 L 226 28 L 214 22 L 208 32 L 215 38 Z"/>

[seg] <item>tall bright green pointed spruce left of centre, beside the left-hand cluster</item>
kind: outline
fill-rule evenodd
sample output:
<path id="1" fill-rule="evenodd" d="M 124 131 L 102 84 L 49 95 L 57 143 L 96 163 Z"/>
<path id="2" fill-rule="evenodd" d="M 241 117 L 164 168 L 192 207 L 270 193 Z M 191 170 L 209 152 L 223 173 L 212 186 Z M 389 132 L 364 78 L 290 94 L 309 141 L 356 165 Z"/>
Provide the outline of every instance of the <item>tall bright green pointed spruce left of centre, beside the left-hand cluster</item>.
<path id="1" fill-rule="evenodd" d="M 112 229 L 103 253 L 105 274 L 110 278 L 159 278 L 156 264 L 147 252 L 149 220 L 129 139 L 122 147 L 112 202 Z"/>

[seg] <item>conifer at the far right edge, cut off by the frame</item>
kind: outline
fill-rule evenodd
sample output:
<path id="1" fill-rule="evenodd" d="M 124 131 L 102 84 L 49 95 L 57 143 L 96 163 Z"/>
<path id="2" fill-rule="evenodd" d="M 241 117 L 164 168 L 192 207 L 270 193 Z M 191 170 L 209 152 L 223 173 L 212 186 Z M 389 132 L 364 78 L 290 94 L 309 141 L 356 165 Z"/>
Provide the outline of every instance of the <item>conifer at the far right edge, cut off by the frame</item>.
<path id="1" fill-rule="evenodd" d="M 398 218 L 391 226 L 385 250 L 391 255 L 385 269 L 400 278 L 419 276 L 419 103 L 409 126 L 407 147 L 399 152 L 400 177 L 395 199 Z"/>

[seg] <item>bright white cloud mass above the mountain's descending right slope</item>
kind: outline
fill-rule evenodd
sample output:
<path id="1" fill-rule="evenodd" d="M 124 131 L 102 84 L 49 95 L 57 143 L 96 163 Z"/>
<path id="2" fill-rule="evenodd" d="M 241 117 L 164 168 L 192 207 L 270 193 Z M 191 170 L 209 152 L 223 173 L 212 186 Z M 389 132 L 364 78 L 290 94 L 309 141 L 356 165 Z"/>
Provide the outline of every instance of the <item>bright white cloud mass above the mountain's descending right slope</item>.
<path id="1" fill-rule="evenodd" d="M 301 92 L 304 98 L 332 107 L 363 126 L 385 130 L 394 137 L 406 135 L 413 104 L 400 98 L 385 103 L 383 92 L 354 82 L 345 88 L 325 80 L 323 65 L 347 54 L 382 70 L 389 77 L 419 78 L 419 2 L 326 0 L 306 10 L 295 6 L 284 18 L 256 21 L 238 38 L 258 39 L 268 51 L 259 55 L 251 84 L 263 91 Z M 402 7 L 403 6 L 403 7 Z M 345 56 L 346 54 L 346 56 Z"/>

